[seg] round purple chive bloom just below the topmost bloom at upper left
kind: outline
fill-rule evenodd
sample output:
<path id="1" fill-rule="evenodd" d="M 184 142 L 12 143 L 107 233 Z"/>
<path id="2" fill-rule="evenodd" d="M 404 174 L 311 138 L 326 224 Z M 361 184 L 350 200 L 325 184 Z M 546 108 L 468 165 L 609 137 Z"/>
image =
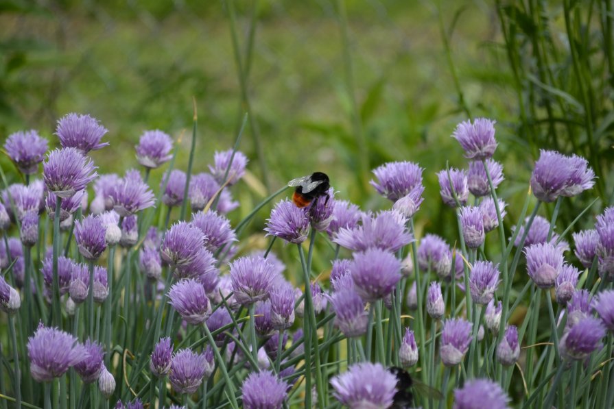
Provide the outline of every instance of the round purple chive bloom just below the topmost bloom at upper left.
<path id="1" fill-rule="evenodd" d="M 43 179 L 51 192 L 67 199 L 96 178 L 95 169 L 92 160 L 77 149 L 55 149 L 43 162 Z"/>

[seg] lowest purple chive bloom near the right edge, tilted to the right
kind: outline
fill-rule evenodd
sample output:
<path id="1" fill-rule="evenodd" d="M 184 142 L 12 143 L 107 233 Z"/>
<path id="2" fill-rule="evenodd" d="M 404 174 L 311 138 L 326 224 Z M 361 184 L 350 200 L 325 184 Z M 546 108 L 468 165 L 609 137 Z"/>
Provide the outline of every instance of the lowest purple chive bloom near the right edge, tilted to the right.
<path id="1" fill-rule="evenodd" d="M 600 319 L 582 318 L 560 338 L 560 356 L 568 360 L 583 360 L 598 349 L 604 336 L 606 329 Z"/>

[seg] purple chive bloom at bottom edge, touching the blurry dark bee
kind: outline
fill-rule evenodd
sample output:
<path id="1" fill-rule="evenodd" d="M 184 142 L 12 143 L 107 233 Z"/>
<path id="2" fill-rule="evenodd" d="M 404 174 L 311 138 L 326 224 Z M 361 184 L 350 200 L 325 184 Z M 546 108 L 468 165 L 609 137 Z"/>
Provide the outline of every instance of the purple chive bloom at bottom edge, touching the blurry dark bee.
<path id="1" fill-rule="evenodd" d="M 397 377 L 381 364 L 353 364 L 331 379 L 333 395 L 349 408 L 389 408 L 397 393 Z"/>

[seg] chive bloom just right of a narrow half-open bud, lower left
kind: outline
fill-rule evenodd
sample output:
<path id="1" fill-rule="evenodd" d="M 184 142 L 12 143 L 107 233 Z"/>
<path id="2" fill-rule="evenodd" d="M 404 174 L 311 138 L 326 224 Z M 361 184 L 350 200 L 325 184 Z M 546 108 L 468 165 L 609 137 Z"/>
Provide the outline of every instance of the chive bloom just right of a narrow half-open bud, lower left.
<path id="1" fill-rule="evenodd" d="M 206 369 L 204 354 L 196 354 L 191 349 L 180 349 L 173 356 L 169 380 L 177 393 L 195 393 L 202 383 Z"/>

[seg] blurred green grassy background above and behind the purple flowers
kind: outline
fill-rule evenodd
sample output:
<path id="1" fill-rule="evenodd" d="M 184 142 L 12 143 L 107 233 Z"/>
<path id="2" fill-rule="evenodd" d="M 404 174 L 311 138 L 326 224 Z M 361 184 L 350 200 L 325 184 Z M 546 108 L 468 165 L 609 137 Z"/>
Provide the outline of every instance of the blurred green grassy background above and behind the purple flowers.
<path id="1" fill-rule="evenodd" d="M 450 135 L 486 116 L 509 223 L 540 147 L 589 158 L 598 184 L 566 201 L 566 223 L 612 192 L 612 16 L 610 1 L 570 0 L 0 1 L 0 139 L 35 128 L 58 145 L 56 120 L 88 113 L 110 129 L 92 155 L 101 172 L 137 166 L 133 147 L 154 128 L 183 135 L 186 169 L 194 99 L 195 171 L 250 114 L 240 149 L 254 177 L 233 188 L 235 223 L 267 188 L 315 170 L 338 197 L 387 207 L 370 169 L 412 160 L 425 168 L 419 228 L 451 237 L 435 172 L 467 166 Z"/>

